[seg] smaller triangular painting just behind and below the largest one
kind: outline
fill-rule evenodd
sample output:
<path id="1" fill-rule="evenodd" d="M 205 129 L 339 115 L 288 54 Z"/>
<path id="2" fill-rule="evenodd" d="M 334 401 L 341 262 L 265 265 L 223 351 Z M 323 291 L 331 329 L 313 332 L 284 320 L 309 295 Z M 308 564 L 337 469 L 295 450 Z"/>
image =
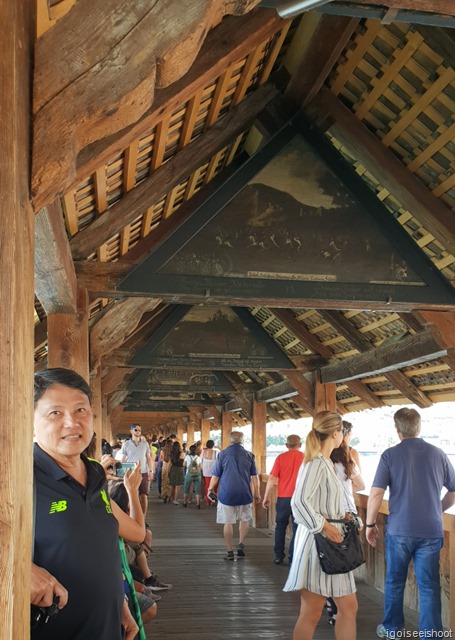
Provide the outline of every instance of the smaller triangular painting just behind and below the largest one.
<path id="1" fill-rule="evenodd" d="M 159 343 L 152 338 L 130 364 L 215 371 L 294 369 L 247 310 L 214 306 L 191 307 Z"/>

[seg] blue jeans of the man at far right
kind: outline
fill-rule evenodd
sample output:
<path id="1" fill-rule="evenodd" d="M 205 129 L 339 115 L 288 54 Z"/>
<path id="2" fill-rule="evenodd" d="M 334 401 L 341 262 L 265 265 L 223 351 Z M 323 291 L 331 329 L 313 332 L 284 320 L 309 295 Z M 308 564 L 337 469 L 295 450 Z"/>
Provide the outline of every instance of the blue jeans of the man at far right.
<path id="1" fill-rule="evenodd" d="M 424 513 L 422 513 L 422 517 Z M 387 631 L 404 627 L 403 595 L 411 559 L 419 589 L 419 631 L 442 631 L 439 553 L 443 538 L 411 538 L 386 534 L 387 574 L 384 620 Z"/>

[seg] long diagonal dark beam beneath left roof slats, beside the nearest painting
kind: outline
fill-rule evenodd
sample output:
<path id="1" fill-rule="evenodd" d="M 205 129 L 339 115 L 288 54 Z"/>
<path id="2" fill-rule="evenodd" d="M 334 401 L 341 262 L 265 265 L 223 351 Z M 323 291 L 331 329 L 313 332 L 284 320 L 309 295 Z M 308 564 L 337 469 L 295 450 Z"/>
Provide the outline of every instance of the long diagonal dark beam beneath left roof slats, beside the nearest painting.
<path id="1" fill-rule="evenodd" d="M 210 159 L 220 148 L 226 146 L 234 135 L 245 129 L 275 95 L 276 89 L 273 87 L 264 86 L 258 89 L 203 136 L 199 136 L 179 151 L 172 162 L 166 162 L 159 167 L 103 216 L 80 231 L 71 240 L 75 258 L 86 258 L 112 235 L 143 214 L 151 204 L 200 167 L 204 159 Z"/>

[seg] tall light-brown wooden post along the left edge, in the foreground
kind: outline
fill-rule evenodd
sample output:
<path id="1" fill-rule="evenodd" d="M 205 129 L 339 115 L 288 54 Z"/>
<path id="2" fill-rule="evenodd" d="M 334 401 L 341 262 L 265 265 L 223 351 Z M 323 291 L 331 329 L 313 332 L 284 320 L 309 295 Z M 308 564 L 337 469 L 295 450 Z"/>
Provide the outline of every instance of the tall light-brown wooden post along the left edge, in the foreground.
<path id="1" fill-rule="evenodd" d="M 2 638 L 30 637 L 35 220 L 28 167 L 35 5 L 27 0 L 0 2 Z"/>

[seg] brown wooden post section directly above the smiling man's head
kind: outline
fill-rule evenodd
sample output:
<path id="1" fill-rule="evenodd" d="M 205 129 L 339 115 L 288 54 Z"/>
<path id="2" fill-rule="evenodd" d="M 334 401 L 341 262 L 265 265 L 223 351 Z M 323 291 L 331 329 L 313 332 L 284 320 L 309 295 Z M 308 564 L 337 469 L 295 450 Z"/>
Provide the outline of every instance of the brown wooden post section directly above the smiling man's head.
<path id="1" fill-rule="evenodd" d="M 47 317 L 48 366 L 73 369 L 89 380 L 88 295 L 77 293 L 77 315 L 51 313 Z"/>

